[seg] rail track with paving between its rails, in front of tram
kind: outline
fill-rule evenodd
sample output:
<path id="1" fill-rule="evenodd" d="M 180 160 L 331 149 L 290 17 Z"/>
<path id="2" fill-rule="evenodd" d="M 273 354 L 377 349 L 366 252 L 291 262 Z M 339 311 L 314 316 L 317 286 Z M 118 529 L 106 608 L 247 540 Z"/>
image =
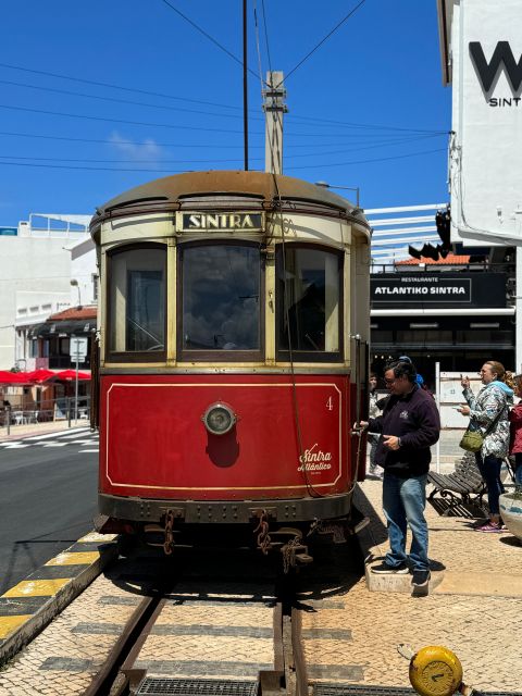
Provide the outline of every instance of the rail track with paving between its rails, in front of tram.
<path id="1" fill-rule="evenodd" d="M 86 695 L 308 696 L 314 666 L 306 643 L 332 632 L 303 632 L 301 613 L 324 607 L 346 580 L 331 543 L 324 548 L 327 566 L 297 575 L 274 564 L 259 576 L 257 563 L 246 571 L 236 559 L 225 563 L 226 579 L 182 573 L 142 598 Z M 346 545 L 336 550 L 349 556 Z"/>

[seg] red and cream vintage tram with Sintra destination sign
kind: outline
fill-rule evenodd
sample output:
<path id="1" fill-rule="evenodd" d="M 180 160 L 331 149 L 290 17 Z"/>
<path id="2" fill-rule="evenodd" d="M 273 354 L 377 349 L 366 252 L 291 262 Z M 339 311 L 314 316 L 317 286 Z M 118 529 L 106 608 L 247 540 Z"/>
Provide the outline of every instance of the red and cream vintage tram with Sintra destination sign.
<path id="1" fill-rule="evenodd" d="M 114 198 L 90 229 L 101 531 L 161 530 L 169 551 L 177 531 L 226 524 L 299 551 L 311 525 L 349 521 L 364 475 L 350 427 L 366 405 L 362 212 L 297 178 L 198 172 Z"/>

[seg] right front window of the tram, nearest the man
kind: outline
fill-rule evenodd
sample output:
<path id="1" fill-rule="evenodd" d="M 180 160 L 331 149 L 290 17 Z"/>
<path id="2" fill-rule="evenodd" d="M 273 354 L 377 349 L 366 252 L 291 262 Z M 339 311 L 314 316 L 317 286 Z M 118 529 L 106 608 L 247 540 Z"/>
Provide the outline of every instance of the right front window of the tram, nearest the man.
<path id="1" fill-rule="evenodd" d="M 277 253 L 278 351 L 307 360 L 340 353 L 340 256 L 287 246 Z"/>

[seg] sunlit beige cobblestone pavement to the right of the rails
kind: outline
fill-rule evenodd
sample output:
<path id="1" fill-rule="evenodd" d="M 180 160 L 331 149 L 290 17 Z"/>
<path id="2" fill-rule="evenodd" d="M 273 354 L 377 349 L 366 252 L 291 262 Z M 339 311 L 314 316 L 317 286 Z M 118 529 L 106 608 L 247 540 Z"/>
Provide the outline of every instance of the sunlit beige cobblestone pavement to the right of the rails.
<path id="1" fill-rule="evenodd" d="M 387 550 L 381 485 L 362 484 L 365 500 L 358 492 L 361 507 L 372 515 L 369 551 L 374 556 Z M 336 636 L 343 642 L 330 646 L 303 639 L 312 681 L 408 686 L 408 661 L 397 651 L 406 643 L 413 650 L 427 645 L 450 648 L 462 662 L 465 683 L 476 688 L 520 689 L 522 546 L 509 533 L 475 532 L 472 520 L 442 518 L 430 505 L 426 518 L 430 557 L 444 571 L 440 584 L 428 597 L 415 598 L 369 592 L 363 579 L 348 593 L 325 598 L 316 612 L 303 612 L 303 630 L 327 622 L 333 631 L 344 632 Z"/>

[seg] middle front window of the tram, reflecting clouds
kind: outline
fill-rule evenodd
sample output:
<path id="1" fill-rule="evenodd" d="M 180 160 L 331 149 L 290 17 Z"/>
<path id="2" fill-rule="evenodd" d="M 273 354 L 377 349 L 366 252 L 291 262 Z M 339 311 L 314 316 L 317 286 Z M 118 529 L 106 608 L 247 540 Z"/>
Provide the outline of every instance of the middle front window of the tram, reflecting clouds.
<path id="1" fill-rule="evenodd" d="M 209 244 L 182 251 L 182 350 L 204 353 L 260 349 L 259 247 Z"/>

